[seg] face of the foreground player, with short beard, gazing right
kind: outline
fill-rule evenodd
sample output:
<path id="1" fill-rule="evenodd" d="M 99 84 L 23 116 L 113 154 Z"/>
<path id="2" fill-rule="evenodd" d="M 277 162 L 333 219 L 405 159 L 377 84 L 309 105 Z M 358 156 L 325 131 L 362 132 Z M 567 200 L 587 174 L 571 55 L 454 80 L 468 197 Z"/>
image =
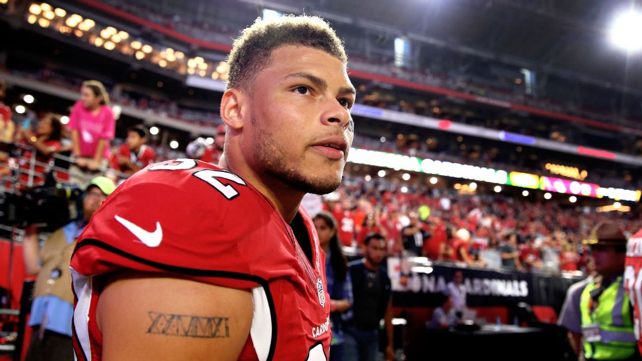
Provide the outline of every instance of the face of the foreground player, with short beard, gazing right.
<path id="1" fill-rule="evenodd" d="M 354 137 L 354 87 L 341 60 L 281 46 L 250 82 L 251 121 L 242 132 L 248 163 L 300 191 L 336 189 Z"/>

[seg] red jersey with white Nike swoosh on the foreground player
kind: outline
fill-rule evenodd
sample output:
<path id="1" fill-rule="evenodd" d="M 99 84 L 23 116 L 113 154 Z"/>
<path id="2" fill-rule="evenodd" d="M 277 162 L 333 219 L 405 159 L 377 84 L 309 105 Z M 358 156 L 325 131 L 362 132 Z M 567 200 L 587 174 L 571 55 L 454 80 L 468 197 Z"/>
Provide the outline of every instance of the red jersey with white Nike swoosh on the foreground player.
<path id="1" fill-rule="evenodd" d="M 101 276 L 134 269 L 250 290 L 254 316 L 239 360 L 327 360 L 325 255 L 302 207 L 299 215 L 312 264 L 268 198 L 237 175 L 192 159 L 135 173 L 92 216 L 71 260 L 78 359 L 101 360 Z"/>

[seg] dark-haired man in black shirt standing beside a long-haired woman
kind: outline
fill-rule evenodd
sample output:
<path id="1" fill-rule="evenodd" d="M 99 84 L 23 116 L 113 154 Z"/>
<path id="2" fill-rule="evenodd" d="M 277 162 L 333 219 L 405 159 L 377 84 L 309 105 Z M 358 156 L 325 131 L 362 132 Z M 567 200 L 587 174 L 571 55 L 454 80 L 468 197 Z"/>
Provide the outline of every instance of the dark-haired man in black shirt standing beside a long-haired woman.
<path id="1" fill-rule="evenodd" d="M 386 254 L 386 240 L 381 234 L 372 233 L 363 243 L 365 257 L 349 264 L 354 305 L 352 318 L 345 328 L 345 360 L 377 360 L 381 319 L 385 321 L 388 335 L 385 358 L 394 360 L 390 278 L 381 265 Z"/>

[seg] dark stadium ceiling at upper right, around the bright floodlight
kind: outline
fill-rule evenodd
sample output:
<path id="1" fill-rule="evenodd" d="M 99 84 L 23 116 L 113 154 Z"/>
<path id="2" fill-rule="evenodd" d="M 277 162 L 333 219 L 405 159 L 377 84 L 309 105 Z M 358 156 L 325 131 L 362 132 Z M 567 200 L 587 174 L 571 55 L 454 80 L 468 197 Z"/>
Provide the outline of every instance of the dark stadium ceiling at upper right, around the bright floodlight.
<path id="1" fill-rule="evenodd" d="M 631 0 L 241 1 L 281 12 L 305 9 L 333 23 L 406 35 L 543 76 L 642 94 L 642 52 L 627 55 L 609 42 L 609 26 Z"/>

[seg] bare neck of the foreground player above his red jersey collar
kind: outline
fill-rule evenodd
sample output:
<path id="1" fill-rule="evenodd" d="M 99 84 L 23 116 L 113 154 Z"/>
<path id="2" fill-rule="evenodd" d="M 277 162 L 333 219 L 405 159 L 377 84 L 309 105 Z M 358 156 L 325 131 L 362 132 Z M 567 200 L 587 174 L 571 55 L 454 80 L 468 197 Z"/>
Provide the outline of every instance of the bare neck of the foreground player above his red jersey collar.
<path id="1" fill-rule="evenodd" d="M 259 175 L 247 163 L 236 162 L 231 158 L 229 154 L 223 153 L 218 165 L 252 184 L 272 202 L 286 222 L 292 222 L 306 193 L 270 175 Z"/>

